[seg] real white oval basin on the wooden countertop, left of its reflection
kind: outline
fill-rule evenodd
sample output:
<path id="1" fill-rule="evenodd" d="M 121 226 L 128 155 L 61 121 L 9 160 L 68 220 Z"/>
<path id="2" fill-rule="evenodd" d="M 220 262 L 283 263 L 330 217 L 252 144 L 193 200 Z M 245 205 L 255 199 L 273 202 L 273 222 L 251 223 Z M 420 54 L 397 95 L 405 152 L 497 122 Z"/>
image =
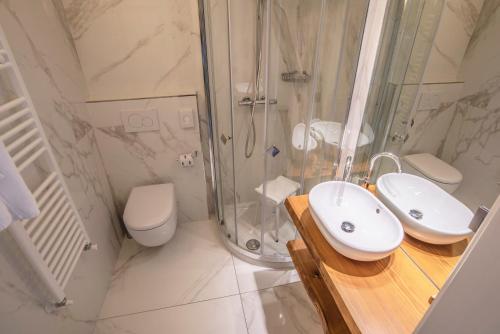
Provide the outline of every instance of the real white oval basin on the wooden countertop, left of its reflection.
<path id="1" fill-rule="evenodd" d="M 396 216 L 358 185 L 320 183 L 309 193 L 309 208 L 328 243 L 353 260 L 382 259 L 403 240 L 404 231 Z"/>

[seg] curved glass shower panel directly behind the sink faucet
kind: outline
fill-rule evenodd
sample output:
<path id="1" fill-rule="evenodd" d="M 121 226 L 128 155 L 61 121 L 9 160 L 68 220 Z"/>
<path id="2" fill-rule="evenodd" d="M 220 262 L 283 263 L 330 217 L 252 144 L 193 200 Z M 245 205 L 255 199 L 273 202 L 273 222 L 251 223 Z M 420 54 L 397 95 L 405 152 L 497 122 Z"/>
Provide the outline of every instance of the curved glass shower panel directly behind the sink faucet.
<path id="1" fill-rule="evenodd" d="M 337 174 L 368 4 L 364 0 L 323 3 L 314 74 L 317 84 L 308 120 L 310 136 L 319 145 L 316 150 L 308 150 L 304 157 L 305 193 Z"/>

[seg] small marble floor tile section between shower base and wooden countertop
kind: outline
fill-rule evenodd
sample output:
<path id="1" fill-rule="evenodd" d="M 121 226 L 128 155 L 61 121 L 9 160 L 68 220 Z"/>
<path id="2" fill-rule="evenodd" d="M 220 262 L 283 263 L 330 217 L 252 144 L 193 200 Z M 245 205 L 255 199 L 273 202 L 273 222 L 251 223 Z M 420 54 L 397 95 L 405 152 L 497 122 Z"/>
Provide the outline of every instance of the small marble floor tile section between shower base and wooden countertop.
<path id="1" fill-rule="evenodd" d="M 263 290 L 300 281 L 300 277 L 295 269 L 283 270 L 255 266 L 237 257 L 234 257 L 234 267 L 240 293 Z"/>

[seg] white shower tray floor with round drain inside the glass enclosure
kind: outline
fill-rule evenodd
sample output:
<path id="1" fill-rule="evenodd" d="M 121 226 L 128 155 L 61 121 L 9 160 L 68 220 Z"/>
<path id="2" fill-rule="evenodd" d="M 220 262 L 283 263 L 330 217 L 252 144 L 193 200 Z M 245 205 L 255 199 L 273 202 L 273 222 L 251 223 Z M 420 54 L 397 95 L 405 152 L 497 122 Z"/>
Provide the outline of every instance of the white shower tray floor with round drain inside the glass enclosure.
<path id="1" fill-rule="evenodd" d="M 259 209 L 260 205 L 258 202 L 245 202 L 238 203 L 236 206 L 236 221 L 238 230 L 238 246 L 253 252 L 255 254 L 261 254 L 262 244 L 261 244 L 261 213 Z M 235 237 L 235 224 L 234 224 L 234 206 L 226 205 L 224 206 L 224 222 L 226 228 L 226 234 L 231 236 L 234 240 Z M 276 231 L 275 231 L 275 214 L 274 212 L 269 212 L 264 219 L 264 254 L 273 256 L 288 256 L 288 249 L 286 243 L 288 240 L 292 240 L 296 237 L 296 229 L 291 222 L 288 212 L 280 207 L 280 226 L 278 230 L 278 242 L 275 241 Z M 259 246 L 255 248 L 256 242 Z M 249 246 L 249 247 L 248 247 Z"/>

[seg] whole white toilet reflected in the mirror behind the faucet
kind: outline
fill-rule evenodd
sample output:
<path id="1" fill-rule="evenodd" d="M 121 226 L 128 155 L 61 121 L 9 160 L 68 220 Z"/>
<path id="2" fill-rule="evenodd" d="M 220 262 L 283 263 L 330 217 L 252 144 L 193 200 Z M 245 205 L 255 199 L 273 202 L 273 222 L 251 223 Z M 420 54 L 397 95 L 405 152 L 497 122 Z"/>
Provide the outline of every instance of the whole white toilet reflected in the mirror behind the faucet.
<path id="1" fill-rule="evenodd" d="M 426 178 L 450 194 L 457 190 L 463 179 L 458 169 L 430 153 L 403 157 L 403 171 Z"/>

